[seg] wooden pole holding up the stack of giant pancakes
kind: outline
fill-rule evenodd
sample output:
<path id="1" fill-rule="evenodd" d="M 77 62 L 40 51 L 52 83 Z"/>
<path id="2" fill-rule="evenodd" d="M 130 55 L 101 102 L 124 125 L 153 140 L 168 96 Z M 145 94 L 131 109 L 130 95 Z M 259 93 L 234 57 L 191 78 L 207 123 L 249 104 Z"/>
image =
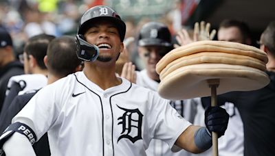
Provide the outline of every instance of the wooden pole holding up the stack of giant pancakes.
<path id="1" fill-rule="evenodd" d="M 208 79 L 208 85 L 211 88 L 211 106 L 217 105 L 217 88 L 219 87 L 219 79 Z M 218 156 L 218 134 L 212 131 L 212 155 Z"/>

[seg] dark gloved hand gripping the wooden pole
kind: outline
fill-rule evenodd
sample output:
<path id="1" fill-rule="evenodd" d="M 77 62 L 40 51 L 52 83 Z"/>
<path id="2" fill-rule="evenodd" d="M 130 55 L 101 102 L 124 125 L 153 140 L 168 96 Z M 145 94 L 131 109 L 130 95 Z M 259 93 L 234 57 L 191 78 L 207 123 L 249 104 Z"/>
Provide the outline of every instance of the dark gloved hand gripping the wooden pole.
<path id="1" fill-rule="evenodd" d="M 212 131 L 217 132 L 218 137 L 224 135 L 229 120 L 229 115 L 225 109 L 219 106 L 207 107 L 204 117 L 206 128 L 210 133 Z"/>

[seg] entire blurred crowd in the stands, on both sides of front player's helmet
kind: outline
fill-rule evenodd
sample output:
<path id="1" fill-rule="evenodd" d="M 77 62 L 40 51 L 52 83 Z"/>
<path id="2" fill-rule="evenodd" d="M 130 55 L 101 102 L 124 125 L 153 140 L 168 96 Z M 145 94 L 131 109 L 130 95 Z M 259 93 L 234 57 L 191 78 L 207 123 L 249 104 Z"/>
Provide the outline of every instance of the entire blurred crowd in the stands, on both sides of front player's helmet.
<path id="1" fill-rule="evenodd" d="M 54 36 L 75 35 L 79 17 L 94 5 L 108 5 L 103 0 L 6 0 L 0 2 L 0 27 L 7 29 L 14 42 L 14 53 L 23 53 L 28 38 L 45 33 Z M 167 14 L 157 16 L 157 21 L 168 24 L 172 34 L 181 29 L 180 3 L 173 4 Z M 122 16 L 123 18 L 123 16 Z M 140 27 L 150 21 L 144 16 L 140 19 L 124 18 L 127 26 L 126 36 L 135 36 Z M 134 55 L 136 57 L 136 55 Z M 142 65 L 140 65 L 142 66 Z"/>

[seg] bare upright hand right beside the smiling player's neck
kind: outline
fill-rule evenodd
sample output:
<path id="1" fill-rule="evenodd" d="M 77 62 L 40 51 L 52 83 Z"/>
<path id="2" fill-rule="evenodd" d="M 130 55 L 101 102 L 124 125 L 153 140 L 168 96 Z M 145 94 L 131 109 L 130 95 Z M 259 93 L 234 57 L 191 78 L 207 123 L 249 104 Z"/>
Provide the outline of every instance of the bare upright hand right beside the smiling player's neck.
<path id="1" fill-rule="evenodd" d="M 135 73 L 135 65 L 132 62 L 126 62 L 122 68 L 122 73 L 120 77 L 124 77 L 132 83 L 135 83 L 137 79 L 137 74 Z"/>

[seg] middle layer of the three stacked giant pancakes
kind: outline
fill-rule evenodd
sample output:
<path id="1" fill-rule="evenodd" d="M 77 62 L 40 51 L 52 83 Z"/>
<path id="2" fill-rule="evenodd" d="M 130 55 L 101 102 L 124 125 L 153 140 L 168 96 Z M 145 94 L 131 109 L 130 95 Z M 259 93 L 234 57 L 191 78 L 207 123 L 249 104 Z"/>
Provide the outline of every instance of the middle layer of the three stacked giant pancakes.
<path id="1" fill-rule="evenodd" d="M 160 73 L 160 79 L 163 79 L 168 73 L 173 72 L 181 66 L 188 66 L 192 64 L 203 64 L 203 63 L 216 63 L 216 64 L 233 64 L 241 66 L 250 66 L 258 68 L 259 70 L 266 70 L 265 63 L 254 57 L 237 55 L 232 53 L 219 53 L 219 52 L 201 52 L 194 53 L 180 57 L 173 62 L 170 62 Z"/>

